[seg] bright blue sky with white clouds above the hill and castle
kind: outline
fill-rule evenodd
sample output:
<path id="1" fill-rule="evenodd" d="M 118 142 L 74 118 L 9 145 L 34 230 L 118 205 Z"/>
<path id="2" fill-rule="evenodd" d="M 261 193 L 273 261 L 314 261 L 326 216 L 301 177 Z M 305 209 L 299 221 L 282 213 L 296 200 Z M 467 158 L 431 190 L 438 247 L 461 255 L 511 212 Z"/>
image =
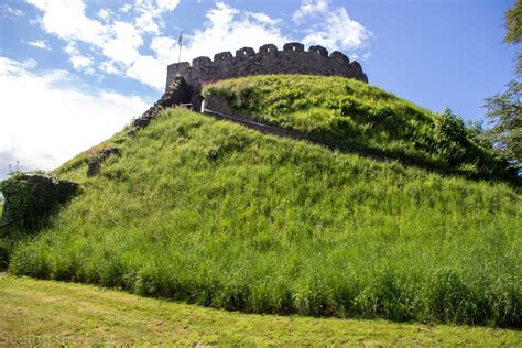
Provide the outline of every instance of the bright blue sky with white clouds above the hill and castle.
<path id="1" fill-rule="evenodd" d="M 345 52 L 370 84 L 483 118 L 514 77 L 514 0 L 0 0 L 0 178 L 51 170 L 161 96 L 166 65 L 290 41 Z"/>

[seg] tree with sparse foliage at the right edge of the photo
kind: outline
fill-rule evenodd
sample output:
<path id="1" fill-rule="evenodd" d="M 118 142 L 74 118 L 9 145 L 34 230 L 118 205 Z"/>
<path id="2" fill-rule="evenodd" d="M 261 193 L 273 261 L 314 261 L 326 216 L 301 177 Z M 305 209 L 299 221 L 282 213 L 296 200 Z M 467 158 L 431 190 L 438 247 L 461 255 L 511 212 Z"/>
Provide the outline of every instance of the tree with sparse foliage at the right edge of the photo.
<path id="1" fill-rule="evenodd" d="M 522 42 L 522 0 L 505 12 L 505 37 L 509 44 Z M 516 73 L 522 74 L 522 55 L 516 58 Z M 514 164 L 519 171 L 522 164 L 522 84 L 513 79 L 508 90 L 486 99 L 485 108 L 491 129 L 486 135 L 494 149 Z"/>

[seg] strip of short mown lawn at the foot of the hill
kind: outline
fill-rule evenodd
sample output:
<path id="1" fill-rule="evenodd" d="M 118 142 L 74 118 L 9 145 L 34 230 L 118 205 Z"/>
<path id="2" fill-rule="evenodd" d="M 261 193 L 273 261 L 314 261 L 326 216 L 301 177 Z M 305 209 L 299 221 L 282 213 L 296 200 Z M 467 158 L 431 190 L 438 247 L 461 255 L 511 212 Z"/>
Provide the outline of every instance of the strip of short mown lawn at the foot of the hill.
<path id="1" fill-rule="evenodd" d="M 0 346 L 522 345 L 519 330 L 249 315 L 1 274 L 0 298 Z"/>

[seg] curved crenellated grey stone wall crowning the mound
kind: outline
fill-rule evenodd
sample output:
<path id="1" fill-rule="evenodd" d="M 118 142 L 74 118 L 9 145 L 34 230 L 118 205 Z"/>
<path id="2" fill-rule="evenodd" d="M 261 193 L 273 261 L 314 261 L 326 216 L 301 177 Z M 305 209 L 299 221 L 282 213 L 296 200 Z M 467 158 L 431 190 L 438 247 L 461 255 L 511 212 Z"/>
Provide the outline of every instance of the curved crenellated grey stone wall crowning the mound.
<path id="1" fill-rule="evenodd" d="M 291 42 L 279 51 L 273 44 L 267 44 L 255 51 L 243 47 L 236 51 L 233 56 L 230 52 L 221 52 L 209 57 L 197 57 L 193 59 L 192 66 L 188 62 L 171 64 L 167 67 L 166 88 L 182 76 L 188 85 L 198 88 L 203 83 L 220 79 L 269 74 L 304 74 L 322 76 L 344 76 L 368 83 L 368 77 L 362 72 L 359 63 L 350 59 L 341 52 L 335 51 L 328 55 L 323 46 L 305 46 L 297 42 Z"/>

